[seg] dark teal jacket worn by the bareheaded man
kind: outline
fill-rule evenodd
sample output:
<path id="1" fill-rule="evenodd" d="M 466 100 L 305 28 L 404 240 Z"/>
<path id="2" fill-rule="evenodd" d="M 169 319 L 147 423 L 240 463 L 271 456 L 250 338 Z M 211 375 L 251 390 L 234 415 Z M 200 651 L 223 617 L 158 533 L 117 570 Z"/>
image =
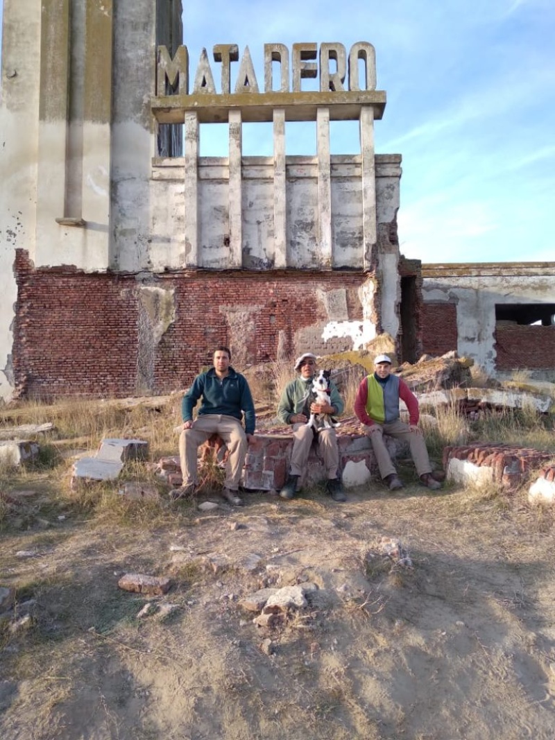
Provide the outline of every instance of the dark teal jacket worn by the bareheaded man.
<path id="1" fill-rule="evenodd" d="M 245 414 L 245 433 L 255 433 L 255 404 L 246 377 L 229 366 L 228 374 L 222 380 L 214 368 L 195 377 L 181 403 L 181 416 L 184 421 L 192 421 L 192 410 L 202 397 L 198 416 L 203 414 L 225 414 L 243 420 Z"/>

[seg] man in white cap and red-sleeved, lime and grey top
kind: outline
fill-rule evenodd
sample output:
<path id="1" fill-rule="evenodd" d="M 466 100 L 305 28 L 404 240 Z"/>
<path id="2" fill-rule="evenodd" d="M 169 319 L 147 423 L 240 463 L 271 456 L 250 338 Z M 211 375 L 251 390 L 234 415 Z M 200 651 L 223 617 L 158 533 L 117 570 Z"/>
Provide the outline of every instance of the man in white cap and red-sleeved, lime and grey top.
<path id="1" fill-rule="evenodd" d="M 408 408 L 408 424 L 399 418 L 400 399 Z M 404 380 L 397 375 L 391 375 L 391 358 L 387 354 L 378 354 L 374 360 L 374 374 L 365 377 L 360 383 L 354 402 L 354 413 L 366 426 L 366 434 L 370 437 L 380 476 L 390 491 L 403 488 L 403 483 L 391 462 L 383 441 L 384 434 L 408 442 L 420 480 L 433 490 L 441 488 L 440 483 L 431 474 L 428 450 L 422 431 L 418 428 L 420 411 L 417 397 Z"/>

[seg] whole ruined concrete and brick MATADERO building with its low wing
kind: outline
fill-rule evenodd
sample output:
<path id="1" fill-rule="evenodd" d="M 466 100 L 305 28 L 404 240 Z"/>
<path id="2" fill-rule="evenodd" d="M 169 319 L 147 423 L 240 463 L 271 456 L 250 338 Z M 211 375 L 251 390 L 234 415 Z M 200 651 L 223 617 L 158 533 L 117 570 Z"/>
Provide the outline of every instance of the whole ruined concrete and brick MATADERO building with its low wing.
<path id="1" fill-rule="evenodd" d="M 383 333 L 400 362 L 551 371 L 555 263 L 400 254 L 370 43 L 265 44 L 263 75 L 218 44 L 189 74 L 181 0 L 123 5 L 4 0 L 0 397 L 167 393 L 221 343 L 245 366 Z M 338 120 L 359 121 L 360 154 L 330 153 Z M 243 156 L 263 121 L 273 156 Z M 314 121 L 316 156 L 287 154 L 289 121 Z M 199 156 L 211 123 L 225 158 Z"/>

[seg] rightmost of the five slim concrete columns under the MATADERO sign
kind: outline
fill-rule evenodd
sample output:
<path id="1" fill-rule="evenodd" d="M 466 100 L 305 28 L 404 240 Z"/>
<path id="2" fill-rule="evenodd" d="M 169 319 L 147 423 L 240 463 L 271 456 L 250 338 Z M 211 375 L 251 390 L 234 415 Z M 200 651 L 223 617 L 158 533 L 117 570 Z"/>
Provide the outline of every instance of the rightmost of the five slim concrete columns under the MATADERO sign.
<path id="1" fill-rule="evenodd" d="M 363 269 L 369 270 L 377 242 L 374 109 L 371 106 L 363 106 L 360 110 L 360 154 L 363 163 Z"/>

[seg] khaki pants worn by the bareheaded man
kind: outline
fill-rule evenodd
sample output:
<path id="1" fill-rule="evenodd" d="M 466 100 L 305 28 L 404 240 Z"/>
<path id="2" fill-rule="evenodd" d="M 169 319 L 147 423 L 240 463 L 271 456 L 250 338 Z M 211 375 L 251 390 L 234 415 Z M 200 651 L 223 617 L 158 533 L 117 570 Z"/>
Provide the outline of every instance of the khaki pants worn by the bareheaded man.
<path id="1" fill-rule="evenodd" d="M 226 480 L 223 485 L 230 491 L 237 491 L 246 449 L 249 445 L 239 420 L 222 414 L 203 414 L 195 419 L 190 429 L 184 429 L 181 432 L 179 459 L 181 460 L 183 485 L 198 483 L 198 448 L 214 433 L 220 435 L 228 451 Z"/>

